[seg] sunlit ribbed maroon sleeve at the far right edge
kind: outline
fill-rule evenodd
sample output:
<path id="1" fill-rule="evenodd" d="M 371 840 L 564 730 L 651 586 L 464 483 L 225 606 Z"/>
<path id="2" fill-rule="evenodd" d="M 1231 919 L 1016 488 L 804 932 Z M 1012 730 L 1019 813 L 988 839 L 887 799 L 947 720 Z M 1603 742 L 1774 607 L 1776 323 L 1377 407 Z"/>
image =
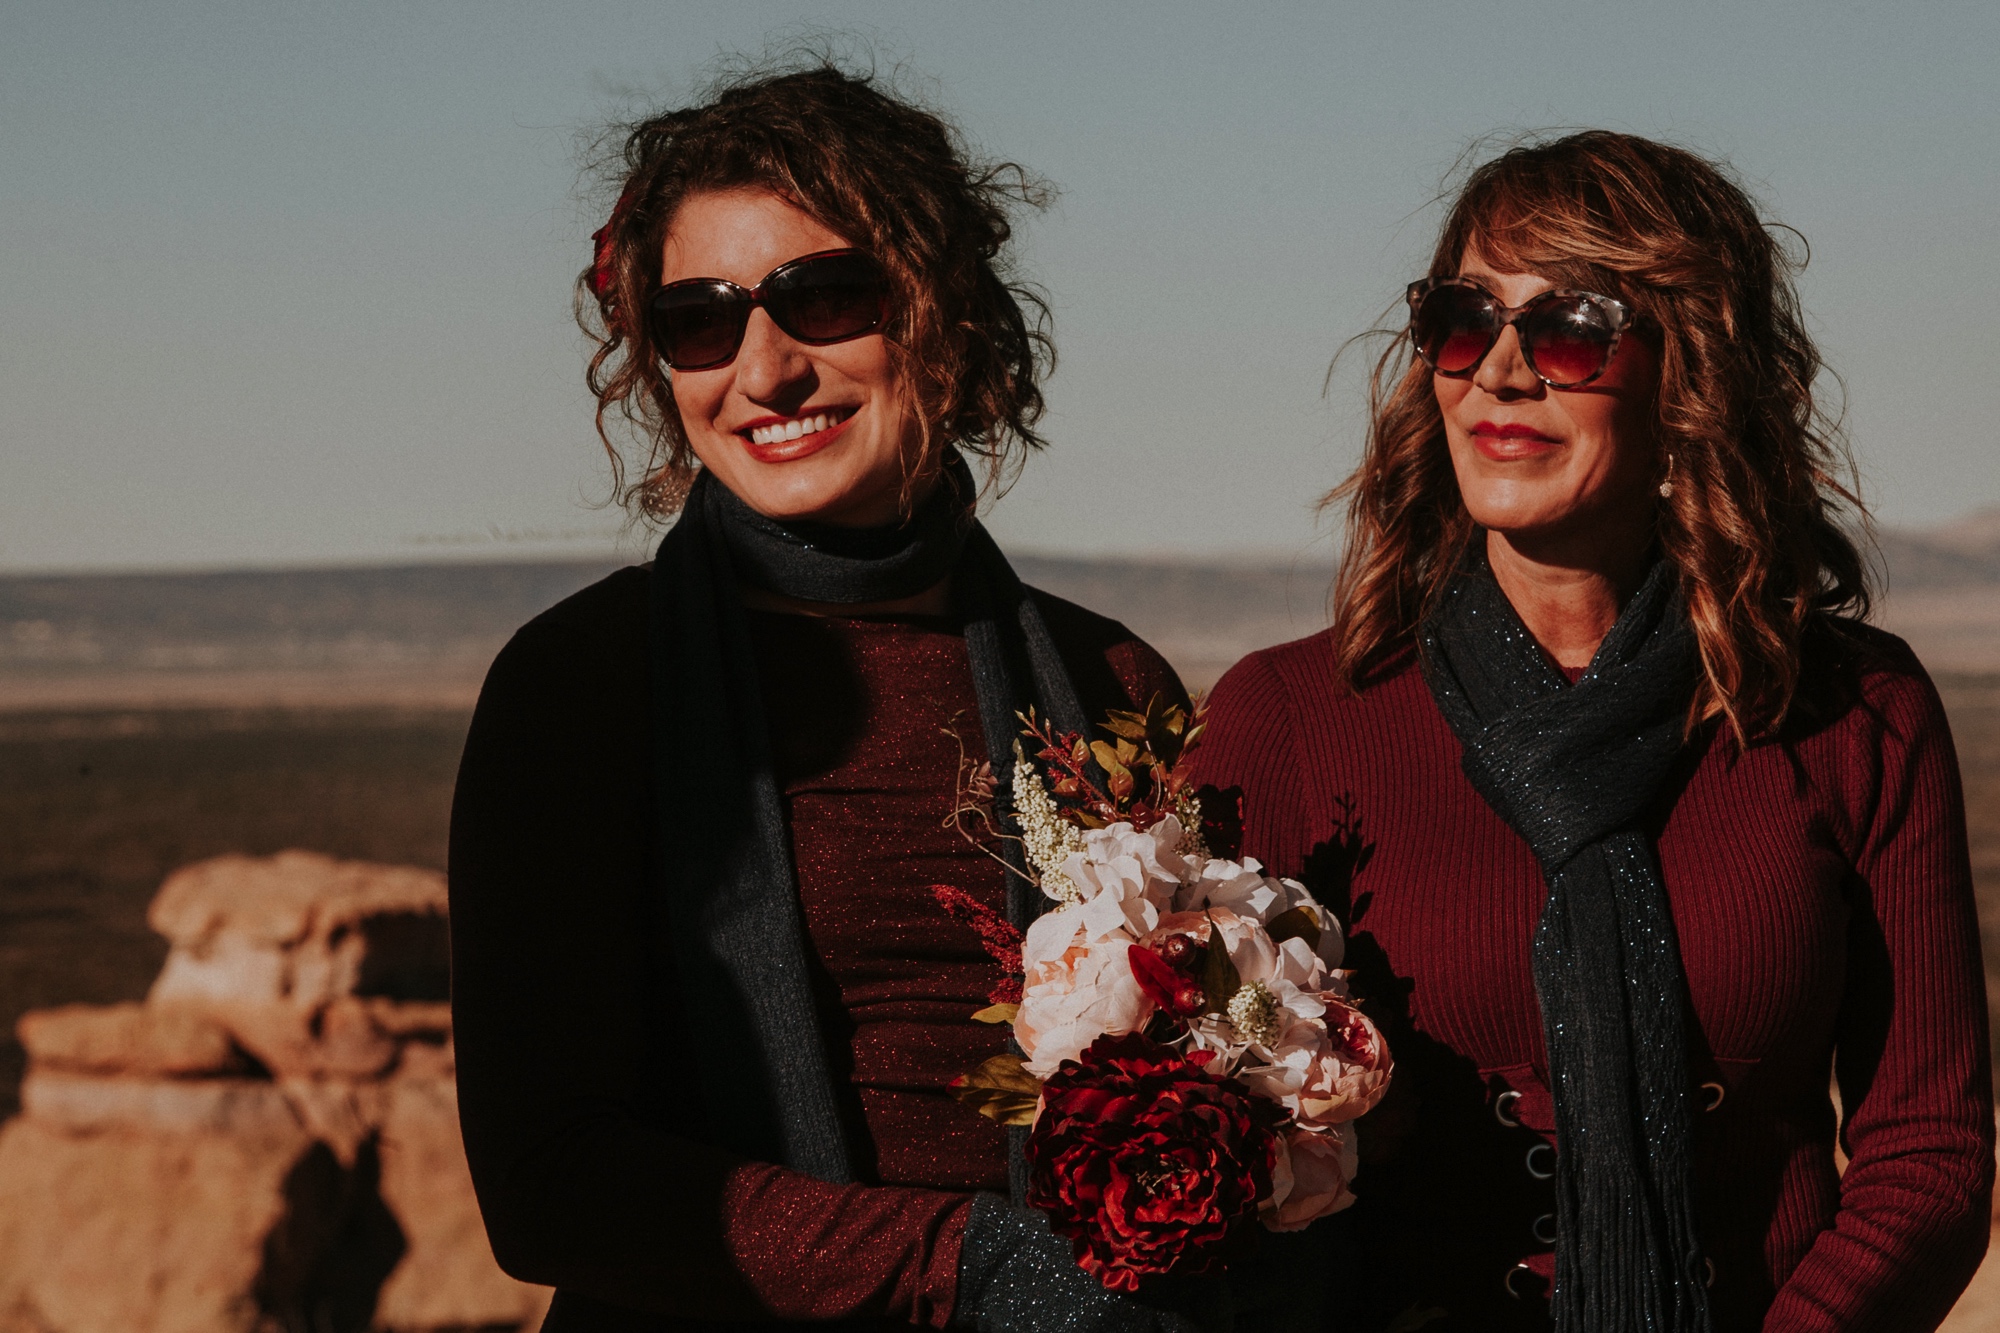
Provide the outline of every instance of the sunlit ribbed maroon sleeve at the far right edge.
<path id="1" fill-rule="evenodd" d="M 1922 671 L 1870 681 L 1852 787 L 1848 983 L 1836 1029 L 1840 1211 L 1766 1333 L 1934 1329 L 1986 1249 L 1992 1073 L 1958 759 Z"/>

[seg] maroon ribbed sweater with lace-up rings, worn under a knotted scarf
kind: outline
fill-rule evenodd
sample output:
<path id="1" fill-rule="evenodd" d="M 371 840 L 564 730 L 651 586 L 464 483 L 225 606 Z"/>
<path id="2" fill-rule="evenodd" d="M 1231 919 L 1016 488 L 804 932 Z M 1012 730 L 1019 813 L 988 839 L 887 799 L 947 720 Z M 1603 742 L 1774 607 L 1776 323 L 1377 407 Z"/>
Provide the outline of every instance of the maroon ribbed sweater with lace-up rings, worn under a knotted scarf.
<path id="1" fill-rule="evenodd" d="M 1332 636 L 1214 691 L 1200 779 L 1244 851 L 1350 923 L 1396 1057 L 1360 1125 L 1354 1327 L 1546 1323 L 1552 1135 L 1530 945 L 1548 887 L 1480 799 L 1404 650 L 1360 695 Z M 1932 1329 L 1986 1247 L 1994 1171 L 1984 977 L 1958 763 L 1896 638 L 1808 642 L 1784 735 L 1714 729 L 1650 815 L 1692 999 L 1700 1233 L 1720 1333 Z M 1834 1165 L 1838 1071 L 1850 1165 Z M 1506 1097 L 1506 1093 L 1518 1097 Z M 1498 1103 L 1498 1105 L 1496 1105 Z M 1518 1127 L 1502 1121 L 1520 1121 Z M 1532 1153 L 1532 1159 L 1530 1159 Z M 1538 1277 L 1540 1275 L 1540 1277 Z"/>

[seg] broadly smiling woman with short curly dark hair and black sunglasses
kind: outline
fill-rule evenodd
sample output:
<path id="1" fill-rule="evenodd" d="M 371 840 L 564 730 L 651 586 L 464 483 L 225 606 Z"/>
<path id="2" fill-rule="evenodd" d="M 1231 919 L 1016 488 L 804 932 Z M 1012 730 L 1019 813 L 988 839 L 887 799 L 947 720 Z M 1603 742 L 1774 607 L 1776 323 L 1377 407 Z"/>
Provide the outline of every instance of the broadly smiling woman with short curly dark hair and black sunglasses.
<path id="1" fill-rule="evenodd" d="M 962 771 L 1028 709 L 1184 701 L 974 516 L 968 456 L 994 480 L 1042 442 L 1040 304 L 1002 264 L 1030 190 L 828 66 L 640 122 L 620 176 L 590 384 L 678 522 L 514 636 L 466 741 L 452 1001 L 494 1253 L 560 1331 L 1194 1327 L 1086 1277 L 946 1091 L 1004 1051 L 972 1015 L 1038 901 L 952 827 Z"/>

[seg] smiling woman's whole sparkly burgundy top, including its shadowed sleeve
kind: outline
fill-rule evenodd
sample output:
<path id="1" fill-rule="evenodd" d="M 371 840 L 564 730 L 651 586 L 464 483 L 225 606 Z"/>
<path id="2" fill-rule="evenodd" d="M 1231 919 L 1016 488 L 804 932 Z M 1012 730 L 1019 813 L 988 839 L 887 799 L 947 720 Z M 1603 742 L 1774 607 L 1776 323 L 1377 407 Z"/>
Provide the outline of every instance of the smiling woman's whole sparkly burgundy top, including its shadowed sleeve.
<path id="1" fill-rule="evenodd" d="M 940 618 L 750 614 L 820 1027 L 866 1181 L 826 1185 L 698 1139 L 680 1067 L 702 1037 L 674 1023 L 646 895 L 648 580 L 620 570 L 522 628 L 466 741 L 454 1021 L 494 1253 L 570 1311 L 610 1307 L 588 1327 L 942 1327 L 968 1191 L 1006 1189 L 1006 1133 L 944 1091 L 1004 1047 L 972 1021 L 1000 967 L 932 893 L 1004 911 L 1000 865 L 946 825 L 960 741 L 986 757 L 964 636 Z M 1036 598 L 1086 715 L 1184 699 L 1124 626 Z"/>

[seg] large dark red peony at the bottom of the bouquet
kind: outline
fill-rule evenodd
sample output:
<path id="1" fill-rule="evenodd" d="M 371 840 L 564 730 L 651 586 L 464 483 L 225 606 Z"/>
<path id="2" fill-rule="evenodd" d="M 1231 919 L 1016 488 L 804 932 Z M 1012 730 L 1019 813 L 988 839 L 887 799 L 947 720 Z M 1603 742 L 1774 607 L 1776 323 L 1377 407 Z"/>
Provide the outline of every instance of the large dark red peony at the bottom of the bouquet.
<path id="1" fill-rule="evenodd" d="M 1138 1033 L 1098 1037 L 1042 1085 L 1028 1203 L 1112 1291 L 1208 1273 L 1270 1195 L 1284 1109 Z"/>

